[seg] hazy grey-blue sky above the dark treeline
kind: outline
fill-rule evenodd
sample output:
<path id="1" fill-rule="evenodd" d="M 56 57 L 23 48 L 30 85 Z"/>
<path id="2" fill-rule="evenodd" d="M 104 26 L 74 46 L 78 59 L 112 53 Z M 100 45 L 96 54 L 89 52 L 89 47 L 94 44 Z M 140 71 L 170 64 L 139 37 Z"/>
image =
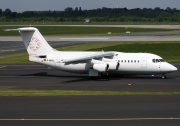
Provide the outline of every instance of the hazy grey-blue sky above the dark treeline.
<path id="1" fill-rule="evenodd" d="M 16 12 L 23 11 L 62 11 L 67 7 L 81 7 L 82 10 L 108 8 L 177 8 L 180 0 L 0 0 L 0 9 Z"/>

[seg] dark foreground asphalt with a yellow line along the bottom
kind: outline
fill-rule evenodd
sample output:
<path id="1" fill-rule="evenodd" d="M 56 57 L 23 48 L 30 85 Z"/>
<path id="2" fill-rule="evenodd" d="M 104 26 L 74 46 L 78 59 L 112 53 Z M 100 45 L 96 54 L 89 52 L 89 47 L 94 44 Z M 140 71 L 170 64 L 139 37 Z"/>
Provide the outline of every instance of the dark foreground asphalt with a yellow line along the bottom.
<path id="1" fill-rule="evenodd" d="M 0 97 L 0 124 L 177 126 L 180 96 Z"/>

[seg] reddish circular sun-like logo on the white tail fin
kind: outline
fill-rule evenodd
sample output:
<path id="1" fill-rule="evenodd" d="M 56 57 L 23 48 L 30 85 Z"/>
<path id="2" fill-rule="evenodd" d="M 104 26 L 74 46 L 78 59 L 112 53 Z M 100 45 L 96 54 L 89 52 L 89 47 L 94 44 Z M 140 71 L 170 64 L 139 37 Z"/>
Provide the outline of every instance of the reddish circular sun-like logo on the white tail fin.
<path id="1" fill-rule="evenodd" d="M 35 37 L 32 37 L 31 41 L 29 41 L 28 47 L 35 52 L 36 50 L 38 50 L 41 47 L 41 44 L 42 43 L 40 42 L 40 40 L 38 40 Z"/>

